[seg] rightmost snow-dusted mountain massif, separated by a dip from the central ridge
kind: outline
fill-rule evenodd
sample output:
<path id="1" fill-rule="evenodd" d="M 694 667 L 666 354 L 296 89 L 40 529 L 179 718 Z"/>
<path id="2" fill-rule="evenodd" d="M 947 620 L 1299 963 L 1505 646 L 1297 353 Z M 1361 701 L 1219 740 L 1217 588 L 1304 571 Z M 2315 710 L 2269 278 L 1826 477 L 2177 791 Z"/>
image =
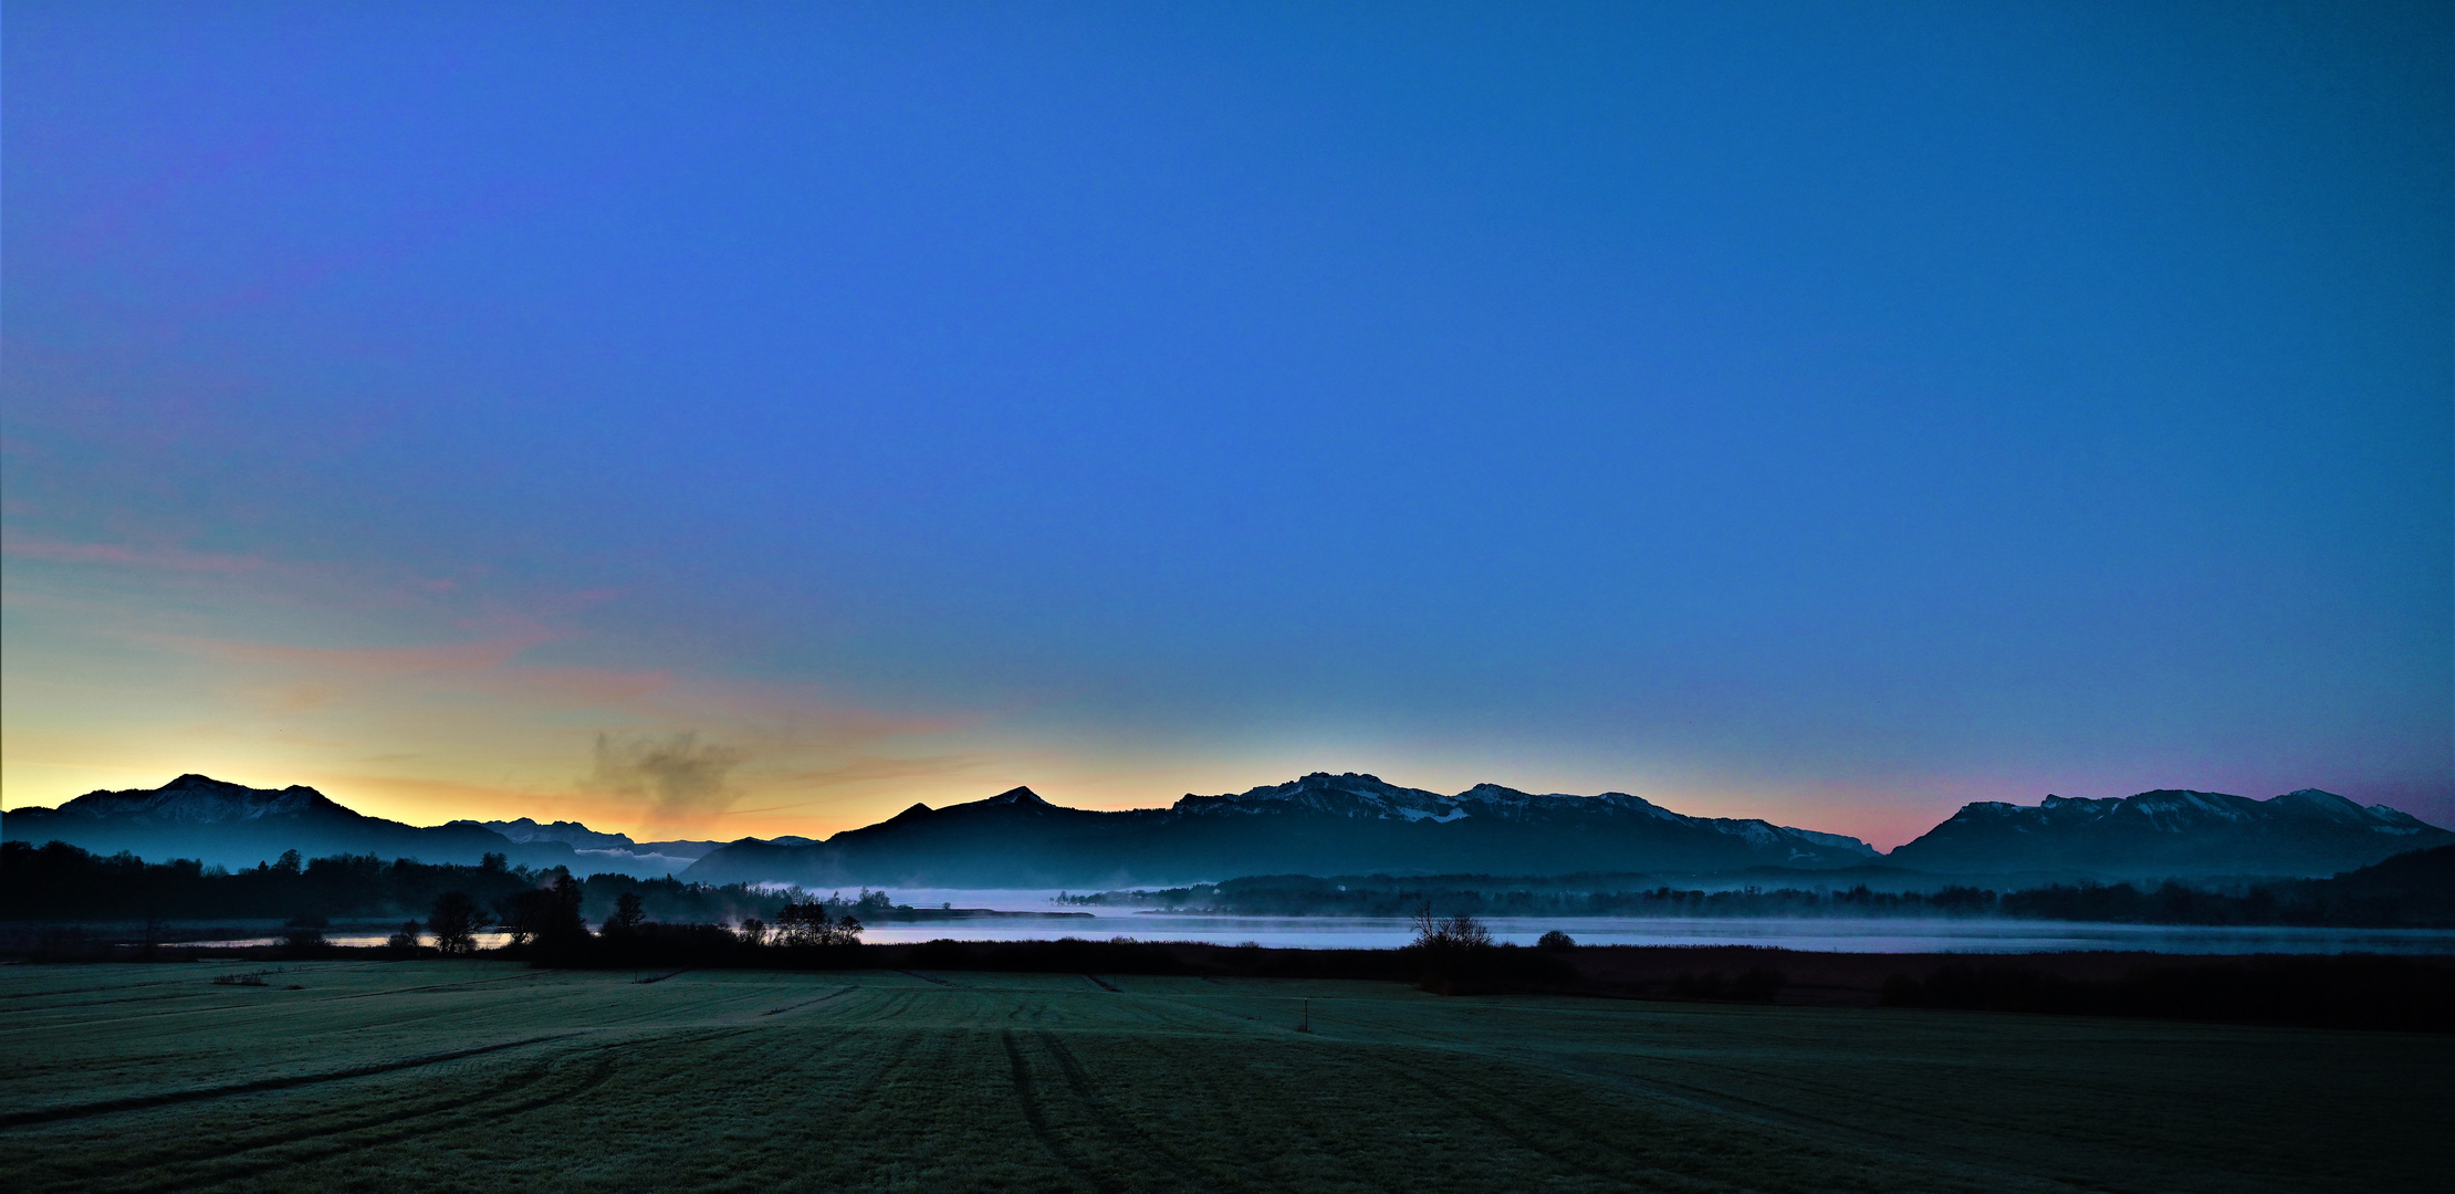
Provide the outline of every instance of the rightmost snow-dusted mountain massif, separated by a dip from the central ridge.
<path id="1" fill-rule="evenodd" d="M 1969 803 L 1888 860 L 1944 875 L 2332 875 L 2448 843 L 2455 833 L 2318 789 L 2268 801 L 2165 789 Z"/>

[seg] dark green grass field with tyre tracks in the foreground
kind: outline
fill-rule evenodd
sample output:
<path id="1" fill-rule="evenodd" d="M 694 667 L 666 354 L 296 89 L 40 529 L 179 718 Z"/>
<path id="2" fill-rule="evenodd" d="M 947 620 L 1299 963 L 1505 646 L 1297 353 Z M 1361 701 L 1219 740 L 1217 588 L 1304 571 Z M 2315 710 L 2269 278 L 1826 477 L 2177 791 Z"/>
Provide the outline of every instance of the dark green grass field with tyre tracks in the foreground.
<path id="1" fill-rule="evenodd" d="M 2455 1162 L 2440 1034 L 1134 975 L 211 983 L 260 968 L 0 968 L 0 1187 L 2379 1192 Z"/>

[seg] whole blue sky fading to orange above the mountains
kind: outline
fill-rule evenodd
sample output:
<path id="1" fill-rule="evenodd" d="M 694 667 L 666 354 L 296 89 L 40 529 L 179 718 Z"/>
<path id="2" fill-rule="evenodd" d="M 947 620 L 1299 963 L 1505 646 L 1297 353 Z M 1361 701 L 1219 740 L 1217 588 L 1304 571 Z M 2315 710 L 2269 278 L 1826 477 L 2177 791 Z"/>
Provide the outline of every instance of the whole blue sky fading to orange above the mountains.
<path id="1" fill-rule="evenodd" d="M 2445 5 L 0 12 L 0 806 L 2455 823 Z"/>

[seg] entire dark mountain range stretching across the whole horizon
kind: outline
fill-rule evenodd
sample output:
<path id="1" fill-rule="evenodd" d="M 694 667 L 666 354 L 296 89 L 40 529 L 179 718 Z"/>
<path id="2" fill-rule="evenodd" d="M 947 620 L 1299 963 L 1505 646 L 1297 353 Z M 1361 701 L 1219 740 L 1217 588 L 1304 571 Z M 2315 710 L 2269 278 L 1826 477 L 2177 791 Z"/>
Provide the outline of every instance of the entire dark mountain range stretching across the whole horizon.
<path id="1" fill-rule="evenodd" d="M 1716 875 L 1750 867 L 1844 870 L 1885 862 L 1930 875 L 2210 877 L 2332 875 L 2455 843 L 2386 806 L 2303 789 L 2268 801 L 2212 791 L 2126 798 L 2047 796 L 1969 803 L 1917 840 L 1876 853 L 1858 838 L 1753 818 L 1699 818 L 1640 796 L 1527 794 L 1478 784 L 1446 796 L 1370 774 L 1316 771 L 1166 808 L 1088 811 L 1011 789 L 984 801 L 916 803 L 876 825 L 813 838 L 636 843 L 577 821 L 454 821 L 417 828 L 356 813 L 307 786 L 248 789 L 179 776 L 160 789 L 93 791 L 0 816 L 0 838 L 96 853 L 253 867 L 282 850 L 574 872 L 678 875 L 810 887 L 1119 887 L 1237 875 Z"/>

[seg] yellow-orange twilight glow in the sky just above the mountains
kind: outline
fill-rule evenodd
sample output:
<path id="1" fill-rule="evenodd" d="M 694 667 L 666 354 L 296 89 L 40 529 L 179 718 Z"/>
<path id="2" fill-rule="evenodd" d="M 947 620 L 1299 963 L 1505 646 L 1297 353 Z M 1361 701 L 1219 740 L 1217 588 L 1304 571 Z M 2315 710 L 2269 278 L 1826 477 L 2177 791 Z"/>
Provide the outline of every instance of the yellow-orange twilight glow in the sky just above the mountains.
<path id="1" fill-rule="evenodd" d="M 535 617 L 498 617 L 479 634 L 430 629 L 415 646 L 304 646 L 285 641 L 302 634 L 287 624 L 295 607 L 246 587 L 253 568 L 64 545 L 22 553 L 12 543 L 10 553 L 37 565 L 101 560 L 128 587 L 152 582 L 182 602 L 201 592 L 218 597 L 221 612 L 184 626 L 128 617 L 120 595 L 91 577 L 47 585 L 61 577 L 12 568 L 0 811 L 196 771 L 248 786 L 304 784 L 361 813 L 420 825 L 528 816 L 636 840 L 825 838 L 916 801 L 980 801 L 1019 784 L 1075 808 L 1154 808 L 1188 791 L 1245 791 L 1328 769 L 1434 791 L 1480 781 L 1633 791 L 1677 813 L 1765 818 L 1888 850 L 1966 801 L 2033 803 L 2055 791 L 2025 774 L 1824 781 L 1375 737 L 1124 747 L 1031 722 L 1029 710 L 876 708 L 818 685 L 570 663 L 555 649 L 587 646 L 587 636 Z M 204 590 L 199 575 L 209 577 Z M 233 575 L 243 587 L 216 595 L 211 585 Z M 282 585 L 312 587 L 300 575 Z M 378 597 L 351 592 L 327 604 L 398 617 Z M 324 636 L 346 641 L 385 617 L 341 619 Z M 2062 791 L 2160 786 L 2092 779 Z"/>

